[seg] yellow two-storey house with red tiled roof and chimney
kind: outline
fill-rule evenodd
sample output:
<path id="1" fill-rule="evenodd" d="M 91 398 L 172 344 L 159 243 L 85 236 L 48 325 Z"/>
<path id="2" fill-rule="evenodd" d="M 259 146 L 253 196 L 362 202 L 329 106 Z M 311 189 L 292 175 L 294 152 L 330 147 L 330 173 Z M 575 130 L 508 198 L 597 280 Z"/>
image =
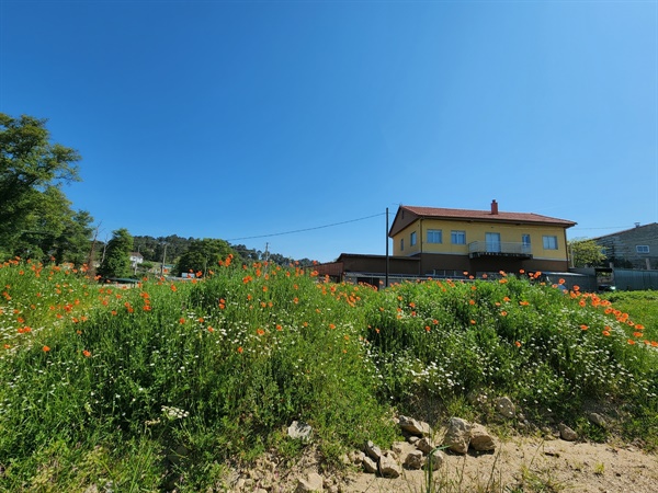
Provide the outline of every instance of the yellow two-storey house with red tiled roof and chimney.
<path id="1" fill-rule="evenodd" d="M 530 213 L 400 206 L 388 236 L 394 256 L 419 259 L 418 275 L 564 272 L 567 228 L 576 222 Z"/>

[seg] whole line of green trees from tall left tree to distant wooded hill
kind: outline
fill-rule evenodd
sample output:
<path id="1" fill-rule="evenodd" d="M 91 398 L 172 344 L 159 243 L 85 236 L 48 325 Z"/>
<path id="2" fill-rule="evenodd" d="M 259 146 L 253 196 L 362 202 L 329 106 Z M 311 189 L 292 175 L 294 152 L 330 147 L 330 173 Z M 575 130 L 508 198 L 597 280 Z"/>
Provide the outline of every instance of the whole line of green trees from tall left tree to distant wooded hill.
<path id="1" fill-rule="evenodd" d="M 52 142 L 47 121 L 0 113 L 0 261 L 20 256 L 58 264 L 87 264 L 105 277 L 137 273 L 131 253 L 144 266 L 173 265 L 172 274 L 205 272 L 229 255 L 234 262 L 298 262 L 277 253 L 232 245 L 219 239 L 133 237 L 127 229 L 112 232 L 107 243 L 98 240 L 100 227 L 87 210 L 77 210 L 63 186 L 80 181 L 77 150 Z"/>

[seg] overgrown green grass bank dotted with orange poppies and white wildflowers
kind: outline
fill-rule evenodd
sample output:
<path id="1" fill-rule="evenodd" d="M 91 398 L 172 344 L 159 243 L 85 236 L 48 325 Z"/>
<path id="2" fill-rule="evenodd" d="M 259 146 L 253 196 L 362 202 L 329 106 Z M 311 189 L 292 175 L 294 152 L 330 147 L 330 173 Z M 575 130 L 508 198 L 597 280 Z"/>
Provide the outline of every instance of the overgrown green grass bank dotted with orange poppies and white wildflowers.
<path id="1" fill-rule="evenodd" d="M 300 454 L 282 432 L 293 420 L 338 463 L 367 439 L 390 445 L 398 412 L 487 423 L 474 392 L 509 395 L 536 428 L 658 446 L 653 299 L 610 306 L 515 276 L 381 291 L 320 280 L 230 265 L 121 289 L 5 263 L 0 490 L 203 491 L 265 450 Z M 614 428 L 583 421 L 592 408 Z"/>

